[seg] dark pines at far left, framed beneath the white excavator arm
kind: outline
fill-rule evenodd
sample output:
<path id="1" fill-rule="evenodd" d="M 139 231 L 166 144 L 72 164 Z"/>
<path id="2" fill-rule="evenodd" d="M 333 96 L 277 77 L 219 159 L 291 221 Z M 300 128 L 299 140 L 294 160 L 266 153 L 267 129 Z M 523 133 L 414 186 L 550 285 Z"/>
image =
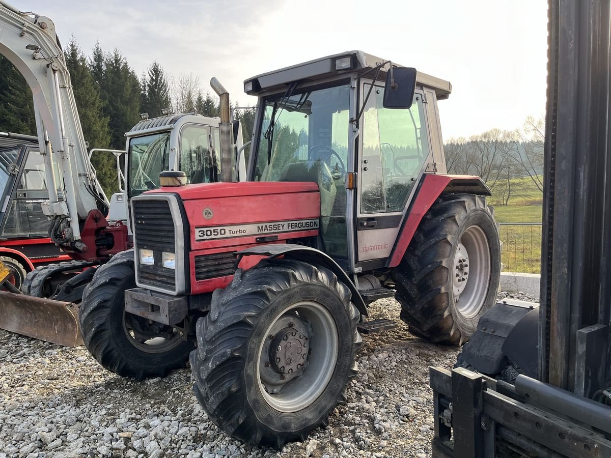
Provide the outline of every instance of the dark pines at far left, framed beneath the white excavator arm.
<path id="1" fill-rule="evenodd" d="M 32 90 L 3 56 L 0 56 L 0 131 L 36 135 Z"/>

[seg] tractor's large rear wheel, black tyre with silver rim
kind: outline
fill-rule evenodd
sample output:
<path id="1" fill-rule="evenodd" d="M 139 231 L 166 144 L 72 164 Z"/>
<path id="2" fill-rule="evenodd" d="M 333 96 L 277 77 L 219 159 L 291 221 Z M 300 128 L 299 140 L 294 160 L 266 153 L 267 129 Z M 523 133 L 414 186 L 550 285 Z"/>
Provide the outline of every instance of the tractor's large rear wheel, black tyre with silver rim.
<path id="1" fill-rule="evenodd" d="M 393 271 L 401 319 L 414 335 L 461 345 L 494 304 L 499 277 L 499 230 L 486 198 L 442 195 Z"/>

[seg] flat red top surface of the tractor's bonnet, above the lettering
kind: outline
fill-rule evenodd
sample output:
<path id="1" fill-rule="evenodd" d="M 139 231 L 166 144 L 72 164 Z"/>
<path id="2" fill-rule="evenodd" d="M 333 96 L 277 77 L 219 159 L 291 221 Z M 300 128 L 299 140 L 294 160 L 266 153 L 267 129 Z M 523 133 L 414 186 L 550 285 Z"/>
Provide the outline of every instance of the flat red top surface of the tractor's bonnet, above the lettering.
<path id="1" fill-rule="evenodd" d="M 238 183 L 203 183 L 189 184 L 188 186 L 166 186 L 148 194 L 156 192 L 172 192 L 180 195 L 182 200 L 219 197 L 242 197 L 262 194 L 291 194 L 302 191 L 318 191 L 318 184 L 309 181 L 240 181 Z"/>

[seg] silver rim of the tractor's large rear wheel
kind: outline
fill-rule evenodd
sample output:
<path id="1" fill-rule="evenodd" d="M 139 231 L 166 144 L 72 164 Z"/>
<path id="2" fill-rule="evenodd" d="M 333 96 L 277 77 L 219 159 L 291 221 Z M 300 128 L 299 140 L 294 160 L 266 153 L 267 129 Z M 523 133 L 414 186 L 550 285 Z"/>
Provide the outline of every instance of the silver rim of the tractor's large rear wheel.
<path id="1" fill-rule="evenodd" d="M 490 245 L 479 226 L 464 231 L 456 248 L 452 290 L 456 310 L 465 318 L 480 312 L 488 294 L 490 279 Z"/>

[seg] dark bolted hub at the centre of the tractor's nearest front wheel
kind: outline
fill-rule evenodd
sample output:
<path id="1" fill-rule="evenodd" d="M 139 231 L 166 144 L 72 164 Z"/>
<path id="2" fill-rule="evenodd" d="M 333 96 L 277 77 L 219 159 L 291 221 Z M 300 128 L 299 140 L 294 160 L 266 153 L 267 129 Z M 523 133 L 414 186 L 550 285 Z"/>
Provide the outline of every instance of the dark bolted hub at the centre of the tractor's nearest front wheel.
<path id="1" fill-rule="evenodd" d="M 310 351 L 310 329 L 298 315 L 280 318 L 268 336 L 262 353 L 261 381 L 268 393 L 277 394 L 285 383 L 305 372 Z"/>

